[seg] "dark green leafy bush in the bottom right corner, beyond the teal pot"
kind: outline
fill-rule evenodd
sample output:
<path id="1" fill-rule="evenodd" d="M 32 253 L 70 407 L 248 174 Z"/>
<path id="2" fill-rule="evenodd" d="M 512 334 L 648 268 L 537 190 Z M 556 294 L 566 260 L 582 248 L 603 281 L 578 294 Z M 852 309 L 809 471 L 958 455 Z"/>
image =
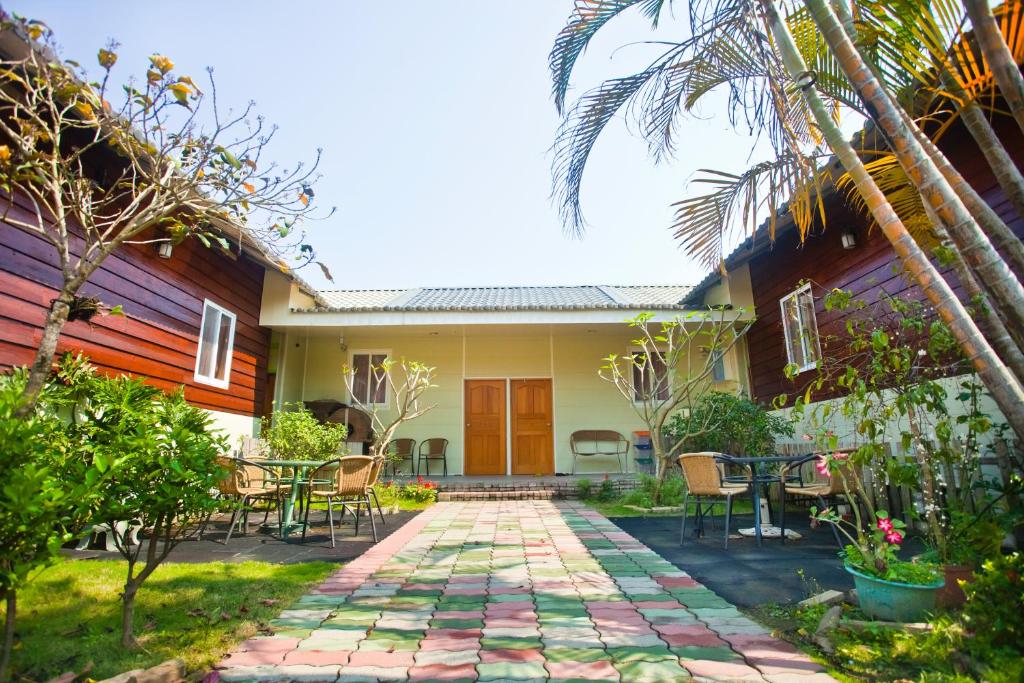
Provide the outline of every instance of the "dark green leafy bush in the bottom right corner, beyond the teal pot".
<path id="1" fill-rule="evenodd" d="M 987 560 L 974 581 L 964 585 L 964 622 L 974 640 L 1024 654 L 1024 555 Z"/>

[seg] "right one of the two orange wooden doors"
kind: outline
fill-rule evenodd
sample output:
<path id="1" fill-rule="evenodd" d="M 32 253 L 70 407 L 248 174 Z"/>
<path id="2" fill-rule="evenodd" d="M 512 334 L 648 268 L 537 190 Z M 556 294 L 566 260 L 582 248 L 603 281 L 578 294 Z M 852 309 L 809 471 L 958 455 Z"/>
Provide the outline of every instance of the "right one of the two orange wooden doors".
<path id="1" fill-rule="evenodd" d="M 554 474 L 551 380 L 512 380 L 512 474 Z"/>

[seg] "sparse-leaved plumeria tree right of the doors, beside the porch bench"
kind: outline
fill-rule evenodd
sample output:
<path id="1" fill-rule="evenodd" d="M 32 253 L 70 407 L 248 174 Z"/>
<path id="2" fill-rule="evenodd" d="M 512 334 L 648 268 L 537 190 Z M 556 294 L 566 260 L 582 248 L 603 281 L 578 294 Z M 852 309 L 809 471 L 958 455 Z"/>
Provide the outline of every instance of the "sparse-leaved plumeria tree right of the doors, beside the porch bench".
<path id="1" fill-rule="evenodd" d="M 674 459 L 699 430 L 711 428 L 710 422 L 686 421 L 670 435 L 670 419 L 690 411 L 714 388 L 715 366 L 753 324 L 743 309 L 692 311 L 663 322 L 641 313 L 629 322 L 637 334 L 631 342 L 635 350 L 604 358 L 598 375 L 629 401 L 650 432 L 657 464 L 651 494 L 655 505 Z"/>

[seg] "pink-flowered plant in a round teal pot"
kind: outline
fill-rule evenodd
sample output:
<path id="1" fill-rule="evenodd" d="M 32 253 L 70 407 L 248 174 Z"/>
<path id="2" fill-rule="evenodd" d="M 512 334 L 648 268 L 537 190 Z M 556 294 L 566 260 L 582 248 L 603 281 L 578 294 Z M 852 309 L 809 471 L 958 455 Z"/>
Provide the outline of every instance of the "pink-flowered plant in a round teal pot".
<path id="1" fill-rule="evenodd" d="M 843 488 L 854 502 L 853 520 L 847 520 L 834 508 L 811 508 L 815 520 L 834 524 L 850 543 L 840 552 L 844 568 L 853 575 L 860 608 L 868 616 L 888 622 L 920 622 L 935 609 L 936 595 L 944 585 L 938 567 L 932 563 L 901 560 L 897 556 L 905 535 L 901 519 L 886 510 L 872 510 L 869 497 L 853 470 L 850 456 L 834 453 L 819 456 L 817 468 L 825 476 L 843 477 Z M 865 528 L 860 505 L 873 522 Z"/>

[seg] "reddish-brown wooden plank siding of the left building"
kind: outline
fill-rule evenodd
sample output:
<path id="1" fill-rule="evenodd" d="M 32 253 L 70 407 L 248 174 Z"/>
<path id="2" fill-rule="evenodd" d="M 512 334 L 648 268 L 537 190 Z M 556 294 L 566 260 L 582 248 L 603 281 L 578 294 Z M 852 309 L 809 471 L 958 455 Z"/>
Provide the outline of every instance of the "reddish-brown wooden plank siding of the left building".
<path id="1" fill-rule="evenodd" d="M 24 211 L 15 206 L 11 214 Z M 76 241 L 73 252 L 80 250 Z M 69 323 L 57 351 L 82 351 L 103 372 L 145 377 L 162 389 L 184 385 L 185 397 L 202 408 L 259 415 L 270 347 L 270 331 L 259 326 L 263 275 L 262 265 L 196 240 L 176 245 L 170 259 L 154 245 L 126 245 L 81 291 L 120 304 L 125 315 Z M 0 368 L 32 361 L 59 285 L 53 246 L 0 220 Z M 195 381 L 204 299 L 238 316 L 226 389 Z"/>

